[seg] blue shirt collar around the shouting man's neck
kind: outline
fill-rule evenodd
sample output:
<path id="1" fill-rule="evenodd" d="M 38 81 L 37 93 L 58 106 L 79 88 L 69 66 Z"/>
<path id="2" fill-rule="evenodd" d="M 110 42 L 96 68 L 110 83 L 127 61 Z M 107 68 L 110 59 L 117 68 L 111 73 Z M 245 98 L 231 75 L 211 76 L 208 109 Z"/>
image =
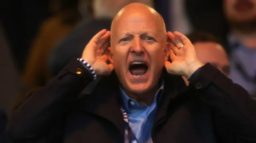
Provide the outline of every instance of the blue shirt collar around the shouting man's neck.
<path id="1" fill-rule="evenodd" d="M 121 96 L 121 99 L 122 99 L 122 104 L 123 104 L 123 106 L 124 106 L 124 108 L 126 109 L 127 112 L 129 112 L 129 109 L 131 108 L 130 107 L 131 102 L 134 104 L 135 108 L 144 108 L 144 107 L 146 107 L 146 106 L 140 106 L 136 100 L 130 98 L 124 92 L 121 85 L 119 86 L 119 88 L 120 88 L 120 92 L 121 92 L 120 96 Z M 164 80 L 161 81 L 161 86 L 158 89 L 158 91 L 156 92 L 156 95 L 155 95 L 155 98 L 154 98 L 154 100 L 156 100 L 157 103 L 160 102 L 160 98 L 163 94 L 163 90 L 164 90 Z"/>

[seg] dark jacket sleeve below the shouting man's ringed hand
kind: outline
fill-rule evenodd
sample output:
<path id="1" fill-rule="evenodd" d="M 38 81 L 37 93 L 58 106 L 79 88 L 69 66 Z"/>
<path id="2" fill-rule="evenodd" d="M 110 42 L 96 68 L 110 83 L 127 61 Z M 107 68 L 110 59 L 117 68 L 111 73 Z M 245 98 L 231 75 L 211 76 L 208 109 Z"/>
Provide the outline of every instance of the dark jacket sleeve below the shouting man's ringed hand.
<path id="1" fill-rule="evenodd" d="M 190 78 L 190 87 L 213 111 L 214 128 L 223 143 L 256 142 L 256 101 L 209 63 Z"/>

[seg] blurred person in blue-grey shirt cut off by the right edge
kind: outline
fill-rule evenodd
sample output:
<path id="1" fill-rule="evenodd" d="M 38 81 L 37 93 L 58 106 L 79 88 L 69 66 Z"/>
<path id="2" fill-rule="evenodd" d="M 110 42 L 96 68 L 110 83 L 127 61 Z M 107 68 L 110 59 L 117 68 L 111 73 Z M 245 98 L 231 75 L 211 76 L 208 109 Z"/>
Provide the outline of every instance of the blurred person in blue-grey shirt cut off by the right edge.
<path id="1" fill-rule="evenodd" d="M 256 99 L 256 0 L 224 0 L 230 78 Z"/>

